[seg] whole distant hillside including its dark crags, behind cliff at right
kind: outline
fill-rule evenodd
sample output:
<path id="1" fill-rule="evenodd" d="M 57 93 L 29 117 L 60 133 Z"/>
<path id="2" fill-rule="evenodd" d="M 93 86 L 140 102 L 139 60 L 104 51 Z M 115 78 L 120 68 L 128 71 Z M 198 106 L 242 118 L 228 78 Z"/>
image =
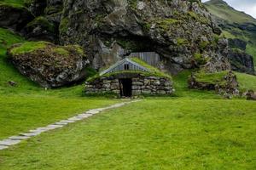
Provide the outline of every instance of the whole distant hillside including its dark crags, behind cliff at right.
<path id="1" fill-rule="evenodd" d="M 223 0 L 210 0 L 205 3 L 218 26 L 224 30 L 224 36 L 229 38 L 229 59 L 234 71 L 253 74 L 256 59 L 256 20 L 252 16 L 237 11 Z M 234 52 L 232 49 L 243 52 Z M 237 50 L 236 50 L 237 51 Z M 253 56 L 253 59 L 250 56 Z M 253 68 L 254 67 L 254 68 Z"/>

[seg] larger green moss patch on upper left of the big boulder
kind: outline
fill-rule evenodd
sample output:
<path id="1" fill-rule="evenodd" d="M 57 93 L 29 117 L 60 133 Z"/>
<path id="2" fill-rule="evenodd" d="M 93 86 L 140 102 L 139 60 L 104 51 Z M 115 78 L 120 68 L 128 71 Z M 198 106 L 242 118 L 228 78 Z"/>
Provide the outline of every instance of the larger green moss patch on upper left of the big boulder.
<path id="1" fill-rule="evenodd" d="M 12 48 L 11 54 L 26 54 L 36 51 L 40 48 L 45 48 L 48 42 L 24 42 L 16 48 Z"/>

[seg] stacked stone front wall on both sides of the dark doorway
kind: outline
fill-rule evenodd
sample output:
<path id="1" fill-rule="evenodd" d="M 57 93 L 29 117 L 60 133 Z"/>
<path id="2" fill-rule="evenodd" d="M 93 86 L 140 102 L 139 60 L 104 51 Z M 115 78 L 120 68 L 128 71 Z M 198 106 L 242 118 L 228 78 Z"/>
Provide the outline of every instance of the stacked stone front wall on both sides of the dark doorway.
<path id="1" fill-rule="evenodd" d="M 170 95 L 174 92 L 172 81 L 166 77 L 131 77 L 132 96 Z M 120 95 L 118 77 L 99 77 L 92 82 L 85 82 L 85 94 Z"/>

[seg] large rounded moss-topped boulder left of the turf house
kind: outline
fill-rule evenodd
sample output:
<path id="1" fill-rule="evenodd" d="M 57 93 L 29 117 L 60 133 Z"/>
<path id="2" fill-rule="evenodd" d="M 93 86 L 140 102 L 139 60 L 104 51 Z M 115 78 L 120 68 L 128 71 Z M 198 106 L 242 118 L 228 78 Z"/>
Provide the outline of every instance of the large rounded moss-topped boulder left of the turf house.
<path id="1" fill-rule="evenodd" d="M 8 55 L 20 73 L 45 88 L 57 88 L 84 78 L 89 64 L 79 46 L 25 42 L 9 48 Z"/>

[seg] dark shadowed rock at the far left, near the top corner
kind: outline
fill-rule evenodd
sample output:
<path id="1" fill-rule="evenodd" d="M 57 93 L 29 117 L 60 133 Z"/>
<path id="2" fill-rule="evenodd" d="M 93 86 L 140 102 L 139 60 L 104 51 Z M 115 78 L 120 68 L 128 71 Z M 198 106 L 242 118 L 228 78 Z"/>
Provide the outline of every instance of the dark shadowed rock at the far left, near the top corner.
<path id="1" fill-rule="evenodd" d="M 20 31 L 33 18 L 32 13 L 25 7 L 0 2 L 0 27 Z"/>

